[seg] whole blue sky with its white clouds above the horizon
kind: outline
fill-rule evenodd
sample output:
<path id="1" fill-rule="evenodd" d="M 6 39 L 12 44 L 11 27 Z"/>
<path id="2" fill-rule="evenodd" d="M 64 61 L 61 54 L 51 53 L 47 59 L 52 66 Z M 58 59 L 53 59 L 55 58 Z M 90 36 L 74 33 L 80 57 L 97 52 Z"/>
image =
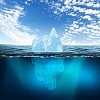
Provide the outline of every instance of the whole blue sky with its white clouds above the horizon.
<path id="1" fill-rule="evenodd" d="M 0 43 L 32 44 L 52 27 L 62 44 L 100 44 L 100 0 L 0 0 Z"/>

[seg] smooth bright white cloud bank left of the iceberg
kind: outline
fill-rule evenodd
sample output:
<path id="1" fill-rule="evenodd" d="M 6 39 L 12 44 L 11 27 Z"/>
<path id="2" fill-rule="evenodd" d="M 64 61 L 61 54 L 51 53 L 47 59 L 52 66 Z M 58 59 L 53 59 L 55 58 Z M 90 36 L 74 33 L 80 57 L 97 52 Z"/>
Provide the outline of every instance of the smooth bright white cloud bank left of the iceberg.
<path id="1" fill-rule="evenodd" d="M 29 27 L 19 22 L 19 18 L 24 15 L 23 9 L 17 5 L 12 9 L 1 9 L 0 38 L 4 40 L 0 39 L 0 43 L 31 45 L 33 39 L 37 38 L 35 34 L 29 34 L 32 31 Z"/>

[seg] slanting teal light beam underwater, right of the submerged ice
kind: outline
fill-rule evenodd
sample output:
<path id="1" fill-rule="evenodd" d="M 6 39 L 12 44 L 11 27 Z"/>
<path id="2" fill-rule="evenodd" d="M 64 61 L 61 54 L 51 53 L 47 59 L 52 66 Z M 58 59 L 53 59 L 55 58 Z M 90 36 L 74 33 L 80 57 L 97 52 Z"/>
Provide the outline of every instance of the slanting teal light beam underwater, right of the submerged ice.
<path id="1" fill-rule="evenodd" d="M 70 64 L 64 64 L 65 70 L 59 80 L 58 89 L 63 92 L 67 91 L 70 95 L 74 95 L 79 78 L 80 68 L 85 58 L 73 58 Z"/>

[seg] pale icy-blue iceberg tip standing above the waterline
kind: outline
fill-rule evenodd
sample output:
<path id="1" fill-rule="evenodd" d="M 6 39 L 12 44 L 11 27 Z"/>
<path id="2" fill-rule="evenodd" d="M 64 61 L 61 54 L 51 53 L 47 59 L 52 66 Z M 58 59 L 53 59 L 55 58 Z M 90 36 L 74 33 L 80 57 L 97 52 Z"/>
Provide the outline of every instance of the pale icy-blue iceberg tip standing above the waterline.
<path id="1" fill-rule="evenodd" d="M 50 35 L 34 40 L 32 43 L 33 52 L 62 52 L 61 40 L 55 30 L 52 28 Z"/>

